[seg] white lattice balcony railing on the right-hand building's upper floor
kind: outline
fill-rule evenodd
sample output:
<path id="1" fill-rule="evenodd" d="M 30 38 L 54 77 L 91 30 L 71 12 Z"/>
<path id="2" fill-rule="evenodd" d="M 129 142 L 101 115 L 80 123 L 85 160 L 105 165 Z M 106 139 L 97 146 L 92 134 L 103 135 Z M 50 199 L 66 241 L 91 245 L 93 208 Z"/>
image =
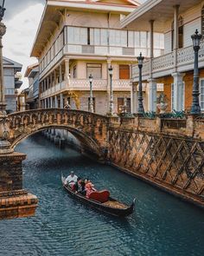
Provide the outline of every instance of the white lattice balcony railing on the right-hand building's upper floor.
<path id="1" fill-rule="evenodd" d="M 154 78 L 162 75 L 171 75 L 172 70 L 177 66 L 178 71 L 185 71 L 185 66 L 188 69 L 194 68 L 194 49 L 192 46 L 178 49 L 177 63 L 175 63 L 175 52 L 156 57 L 152 60 L 152 74 Z M 199 62 L 204 61 L 204 43 L 201 43 L 201 49 L 199 51 Z M 132 66 L 132 77 L 138 79 L 139 69 L 137 64 Z M 143 77 L 147 78 L 150 75 L 150 60 L 143 62 Z"/>

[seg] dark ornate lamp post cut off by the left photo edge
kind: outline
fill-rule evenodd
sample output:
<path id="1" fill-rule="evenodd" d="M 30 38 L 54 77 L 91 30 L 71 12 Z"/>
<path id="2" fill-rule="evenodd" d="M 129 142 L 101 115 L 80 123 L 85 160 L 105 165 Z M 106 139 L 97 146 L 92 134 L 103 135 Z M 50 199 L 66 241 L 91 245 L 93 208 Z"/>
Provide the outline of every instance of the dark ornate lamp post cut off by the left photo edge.
<path id="1" fill-rule="evenodd" d="M 5 8 L 4 8 L 4 0 L 0 1 L 0 115 L 5 113 L 6 102 L 3 88 L 3 44 L 2 38 L 6 33 L 6 26 L 2 23 Z"/>

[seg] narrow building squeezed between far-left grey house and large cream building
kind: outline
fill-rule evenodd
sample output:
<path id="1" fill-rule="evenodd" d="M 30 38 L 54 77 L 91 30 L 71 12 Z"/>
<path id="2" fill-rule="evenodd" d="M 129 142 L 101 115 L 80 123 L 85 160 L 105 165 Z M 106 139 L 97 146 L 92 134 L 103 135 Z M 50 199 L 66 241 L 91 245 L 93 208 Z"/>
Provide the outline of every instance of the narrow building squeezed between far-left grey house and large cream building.
<path id="1" fill-rule="evenodd" d="M 29 93 L 26 97 L 27 108 L 39 108 L 39 64 L 29 66 L 24 76 L 29 80 Z"/>

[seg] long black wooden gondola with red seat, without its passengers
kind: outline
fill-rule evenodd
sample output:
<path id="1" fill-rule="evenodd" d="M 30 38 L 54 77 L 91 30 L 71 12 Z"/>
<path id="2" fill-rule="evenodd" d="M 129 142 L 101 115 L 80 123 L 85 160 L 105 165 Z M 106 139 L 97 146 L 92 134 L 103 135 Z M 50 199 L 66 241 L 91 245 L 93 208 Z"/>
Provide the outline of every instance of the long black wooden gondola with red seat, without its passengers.
<path id="1" fill-rule="evenodd" d="M 109 197 L 107 201 L 104 203 L 99 202 L 98 200 L 90 200 L 87 199 L 86 196 L 80 194 L 80 193 L 75 193 L 71 187 L 67 186 L 65 184 L 65 177 L 63 174 L 61 174 L 61 182 L 62 186 L 66 189 L 68 194 L 71 194 L 73 198 L 80 200 L 81 202 L 85 203 L 89 207 L 95 208 L 101 212 L 104 213 L 109 213 L 114 216 L 118 217 L 125 217 L 133 213 L 134 208 L 135 208 L 135 199 L 132 201 L 131 206 L 126 206 L 123 203 L 119 202 L 118 200 L 112 199 L 112 197 Z"/>

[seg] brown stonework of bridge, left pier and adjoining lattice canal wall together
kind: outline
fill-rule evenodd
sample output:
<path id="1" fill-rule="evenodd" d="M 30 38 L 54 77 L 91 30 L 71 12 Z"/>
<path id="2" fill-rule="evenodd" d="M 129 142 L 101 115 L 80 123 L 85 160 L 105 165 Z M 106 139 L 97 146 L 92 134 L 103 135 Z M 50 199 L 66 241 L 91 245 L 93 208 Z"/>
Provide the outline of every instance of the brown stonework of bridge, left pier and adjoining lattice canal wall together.
<path id="1" fill-rule="evenodd" d="M 106 117 L 79 110 L 36 109 L 0 117 L 0 219 L 31 216 L 37 198 L 22 189 L 17 143 L 48 128 L 70 131 L 88 153 L 204 207 L 204 119 Z"/>

